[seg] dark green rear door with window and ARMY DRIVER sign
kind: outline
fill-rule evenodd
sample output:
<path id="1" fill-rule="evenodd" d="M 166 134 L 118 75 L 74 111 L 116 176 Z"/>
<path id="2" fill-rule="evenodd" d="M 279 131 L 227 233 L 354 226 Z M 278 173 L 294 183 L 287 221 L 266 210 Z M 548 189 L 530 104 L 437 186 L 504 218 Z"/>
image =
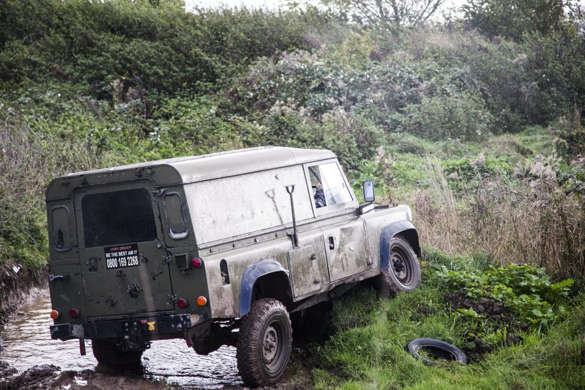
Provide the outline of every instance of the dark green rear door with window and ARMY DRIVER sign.
<path id="1" fill-rule="evenodd" d="M 156 194 L 150 180 L 75 191 L 88 317 L 174 309 Z"/>

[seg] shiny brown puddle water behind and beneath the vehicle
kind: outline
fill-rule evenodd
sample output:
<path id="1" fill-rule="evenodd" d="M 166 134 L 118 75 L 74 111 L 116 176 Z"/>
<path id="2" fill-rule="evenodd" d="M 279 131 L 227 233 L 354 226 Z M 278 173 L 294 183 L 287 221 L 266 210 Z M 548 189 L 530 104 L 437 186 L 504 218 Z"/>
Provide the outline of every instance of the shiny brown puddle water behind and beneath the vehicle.
<path id="1" fill-rule="evenodd" d="M 49 326 L 51 301 L 49 291 L 30 299 L 20 308 L 2 333 L 0 360 L 25 371 L 38 364 L 54 364 L 67 370 L 96 370 L 98 365 L 86 341 L 87 355 L 80 356 L 79 341 L 51 340 Z M 128 374 L 128 371 L 125 371 Z M 185 340 L 154 341 L 142 356 L 142 367 L 134 373 L 146 378 L 164 378 L 168 384 L 184 389 L 214 389 L 225 385 L 242 385 L 236 364 L 236 349 L 222 347 L 208 356 L 199 356 Z"/>

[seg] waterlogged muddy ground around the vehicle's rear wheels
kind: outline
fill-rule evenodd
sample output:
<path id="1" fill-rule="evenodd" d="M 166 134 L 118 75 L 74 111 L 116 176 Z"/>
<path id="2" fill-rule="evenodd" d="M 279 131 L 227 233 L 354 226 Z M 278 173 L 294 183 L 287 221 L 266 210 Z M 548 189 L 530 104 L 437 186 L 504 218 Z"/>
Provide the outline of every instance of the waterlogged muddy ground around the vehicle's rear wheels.
<path id="1" fill-rule="evenodd" d="M 97 363 L 90 341 L 87 355 L 80 356 L 78 340 L 51 340 L 50 310 L 48 291 L 42 291 L 6 325 L 0 341 L 0 390 L 245 389 L 233 347 L 199 356 L 183 339 L 154 341 L 139 367 L 109 367 Z M 308 383 L 286 384 L 291 376 L 286 372 L 283 384 L 267 389 L 310 388 Z"/>

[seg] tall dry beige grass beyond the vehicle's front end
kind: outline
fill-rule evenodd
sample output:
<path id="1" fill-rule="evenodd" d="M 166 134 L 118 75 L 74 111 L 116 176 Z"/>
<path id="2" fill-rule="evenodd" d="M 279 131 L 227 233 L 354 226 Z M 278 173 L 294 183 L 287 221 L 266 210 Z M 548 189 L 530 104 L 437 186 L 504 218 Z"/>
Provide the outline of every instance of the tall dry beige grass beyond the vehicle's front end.
<path id="1" fill-rule="evenodd" d="M 512 177 L 478 177 L 463 191 L 435 158 L 426 170 L 433 180 L 408 200 L 423 243 L 585 280 L 585 201 L 559 186 L 552 158 L 518 164 Z"/>

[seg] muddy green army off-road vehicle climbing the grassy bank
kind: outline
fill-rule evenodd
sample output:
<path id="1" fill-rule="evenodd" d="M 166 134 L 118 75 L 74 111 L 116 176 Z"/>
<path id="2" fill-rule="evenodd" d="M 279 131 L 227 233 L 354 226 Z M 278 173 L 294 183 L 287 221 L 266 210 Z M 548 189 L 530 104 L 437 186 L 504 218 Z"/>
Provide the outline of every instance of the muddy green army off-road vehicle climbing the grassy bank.
<path id="1" fill-rule="evenodd" d="M 359 205 L 328 150 L 259 147 L 80 172 L 46 191 L 53 339 L 139 364 L 153 340 L 237 347 L 249 386 L 276 382 L 291 320 L 365 279 L 421 282 L 408 206 Z M 294 325 L 294 323 L 293 323 Z"/>

